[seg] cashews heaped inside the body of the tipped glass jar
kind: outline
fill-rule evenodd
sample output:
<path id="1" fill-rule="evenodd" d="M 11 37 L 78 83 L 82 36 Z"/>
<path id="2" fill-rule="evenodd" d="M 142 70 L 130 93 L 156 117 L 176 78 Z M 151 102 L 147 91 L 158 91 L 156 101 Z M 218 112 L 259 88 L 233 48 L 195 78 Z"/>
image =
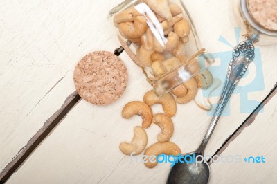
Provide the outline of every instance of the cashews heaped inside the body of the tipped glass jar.
<path id="1" fill-rule="evenodd" d="M 164 45 L 157 35 L 153 34 L 153 28 L 148 26 L 149 12 L 143 15 L 132 6 L 114 16 L 114 25 L 122 37 L 136 44 L 138 60 L 136 64 L 151 67 L 152 74 L 158 77 L 181 62 L 186 62 L 184 44 L 188 42 L 190 24 L 184 18 L 181 8 L 175 3 L 169 3 L 168 0 L 143 0 L 143 2 L 154 12 L 157 20 L 154 24 L 159 24 L 163 29 L 162 37 L 167 40 Z"/>

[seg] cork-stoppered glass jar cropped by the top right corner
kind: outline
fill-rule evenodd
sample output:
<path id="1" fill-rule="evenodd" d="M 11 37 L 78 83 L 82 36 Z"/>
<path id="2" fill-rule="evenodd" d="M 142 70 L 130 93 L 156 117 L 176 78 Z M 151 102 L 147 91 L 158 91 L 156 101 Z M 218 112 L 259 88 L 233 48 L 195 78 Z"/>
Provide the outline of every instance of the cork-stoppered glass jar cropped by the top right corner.
<path id="1" fill-rule="evenodd" d="M 258 33 L 257 44 L 277 44 L 276 0 L 229 0 L 229 8 L 232 24 L 246 36 Z"/>

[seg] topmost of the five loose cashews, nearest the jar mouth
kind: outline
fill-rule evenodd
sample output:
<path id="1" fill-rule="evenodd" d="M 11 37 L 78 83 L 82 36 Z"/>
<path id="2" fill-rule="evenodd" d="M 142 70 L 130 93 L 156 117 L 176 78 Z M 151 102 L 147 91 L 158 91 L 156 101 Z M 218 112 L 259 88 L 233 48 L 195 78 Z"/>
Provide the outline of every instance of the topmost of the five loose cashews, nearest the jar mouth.
<path id="1" fill-rule="evenodd" d="M 163 106 L 163 111 L 170 117 L 175 116 L 177 111 L 175 99 L 170 93 L 157 96 L 154 91 L 148 91 L 145 93 L 143 101 L 149 106 L 161 104 Z"/>

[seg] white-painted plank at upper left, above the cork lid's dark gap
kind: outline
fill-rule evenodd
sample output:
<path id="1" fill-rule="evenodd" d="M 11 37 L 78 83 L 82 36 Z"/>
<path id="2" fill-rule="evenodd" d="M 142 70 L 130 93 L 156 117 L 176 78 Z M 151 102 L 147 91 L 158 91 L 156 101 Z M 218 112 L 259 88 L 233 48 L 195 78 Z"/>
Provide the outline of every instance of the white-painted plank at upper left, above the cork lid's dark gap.
<path id="1" fill-rule="evenodd" d="M 116 1 L 0 1 L 0 172 L 75 91 L 75 64 L 119 46 Z"/>

